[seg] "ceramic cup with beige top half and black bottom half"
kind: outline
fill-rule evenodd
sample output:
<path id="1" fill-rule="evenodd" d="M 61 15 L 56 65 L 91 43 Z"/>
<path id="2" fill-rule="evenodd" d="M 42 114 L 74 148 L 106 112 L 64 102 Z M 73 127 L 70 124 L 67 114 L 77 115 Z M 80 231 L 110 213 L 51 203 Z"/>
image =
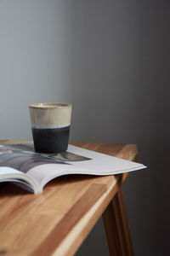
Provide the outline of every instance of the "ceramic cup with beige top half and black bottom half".
<path id="1" fill-rule="evenodd" d="M 29 106 L 35 151 L 59 153 L 67 150 L 71 108 L 69 103 L 35 103 Z"/>

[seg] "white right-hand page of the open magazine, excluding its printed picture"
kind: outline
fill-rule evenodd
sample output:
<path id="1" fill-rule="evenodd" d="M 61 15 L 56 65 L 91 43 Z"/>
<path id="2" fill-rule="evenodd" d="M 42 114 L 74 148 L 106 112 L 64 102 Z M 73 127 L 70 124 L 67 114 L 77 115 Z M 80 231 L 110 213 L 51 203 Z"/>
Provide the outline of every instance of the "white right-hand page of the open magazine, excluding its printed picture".
<path id="1" fill-rule="evenodd" d="M 45 164 L 35 166 L 27 172 L 27 175 L 34 177 L 37 183 L 44 184 L 54 177 L 65 174 L 111 175 L 145 168 L 144 165 L 133 161 L 122 160 L 107 154 L 100 154 L 72 145 L 69 145 L 67 151 L 88 157 L 91 160 L 66 161 L 66 163 L 70 165 Z"/>

